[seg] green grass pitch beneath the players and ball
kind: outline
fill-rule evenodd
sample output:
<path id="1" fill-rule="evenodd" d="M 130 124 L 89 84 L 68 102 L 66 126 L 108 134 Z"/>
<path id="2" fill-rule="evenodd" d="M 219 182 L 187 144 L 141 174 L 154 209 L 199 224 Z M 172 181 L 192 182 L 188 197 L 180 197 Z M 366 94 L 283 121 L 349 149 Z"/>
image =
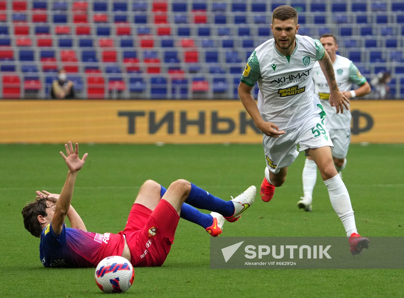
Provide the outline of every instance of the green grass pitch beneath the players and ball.
<path id="1" fill-rule="evenodd" d="M 39 239 L 23 227 L 21 209 L 36 190 L 60 192 L 67 167 L 63 145 L 0 145 L 0 297 L 100 297 L 94 269 L 45 269 Z M 90 145 L 78 175 L 72 205 L 89 231 L 123 229 L 143 181 L 162 185 L 184 178 L 224 199 L 249 185 L 260 186 L 265 161 L 257 145 Z M 402 156 L 404 145 L 353 144 L 343 179 L 359 232 L 403 236 Z M 255 204 L 226 236 L 343 236 L 318 175 L 313 212 L 297 208 L 302 194 L 300 154 L 274 199 Z M 160 268 L 135 268 L 127 297 L 402 297 L 404 270 L 212 270 L 209 238 L 201 227 L 180 220 L 175 243 Z M 370 244 L 371 245 L 371 244 Z M 370 246 L 371 248 L 371 246 Z M 347 249 L 348 246 L 347 246 Z M 389 248 L 386 247 L 386 250 Z M 366 254 L 366 251 L 364 252 Z"/>

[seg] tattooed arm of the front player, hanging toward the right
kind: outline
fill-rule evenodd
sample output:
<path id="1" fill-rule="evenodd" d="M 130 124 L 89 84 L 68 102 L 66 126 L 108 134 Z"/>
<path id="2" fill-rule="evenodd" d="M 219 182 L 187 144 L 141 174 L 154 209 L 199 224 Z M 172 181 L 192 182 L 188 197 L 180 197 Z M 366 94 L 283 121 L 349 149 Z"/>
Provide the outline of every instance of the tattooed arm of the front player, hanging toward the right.
<path id="1" fill-rule="evenodd" d="M 321 70 L 326 77 L 327 83 L 330 87 L 330 104 L 331 106 L 335 106 L 337 109 L 337 114 L 341 110 L 341 113 L 344 112 L 344 106 L 347 110 L 349 110 L 347 103 L 349 104 L 349 100 L 339 91 L 337 81 L 335 80 L 334 67 L 332 67 L 332 61 L 328 53 L 324 53 L 324 57 L 321 60 L 318 60 L 320 63 Z"/>

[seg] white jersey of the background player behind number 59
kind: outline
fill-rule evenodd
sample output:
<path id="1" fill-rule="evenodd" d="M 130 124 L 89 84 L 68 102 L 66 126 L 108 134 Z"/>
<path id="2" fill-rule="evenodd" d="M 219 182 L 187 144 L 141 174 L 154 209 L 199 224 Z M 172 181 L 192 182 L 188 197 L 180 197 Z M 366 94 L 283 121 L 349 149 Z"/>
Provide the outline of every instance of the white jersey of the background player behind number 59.
<path id="1" fill-rule="evenodd" d="M 335 80 L 337 81 L 339 91 L 350 91 L 352 83 L 359 86 L 366 83 L 365 77 L 362 76 L 358 68 L 351 60 L 336 55 L 332 64 L 335 72 Z M 351 112 L 345 110 L 344 113 L 337 114 L 335 107 L 330 105 L 330 87 L 327 80 L 317 62 L 313 67 L 314 94 L 320 99 L 320 102 L 327 114 L 324 121 L 328 129 L 349 129 L 351 127 Z"/>

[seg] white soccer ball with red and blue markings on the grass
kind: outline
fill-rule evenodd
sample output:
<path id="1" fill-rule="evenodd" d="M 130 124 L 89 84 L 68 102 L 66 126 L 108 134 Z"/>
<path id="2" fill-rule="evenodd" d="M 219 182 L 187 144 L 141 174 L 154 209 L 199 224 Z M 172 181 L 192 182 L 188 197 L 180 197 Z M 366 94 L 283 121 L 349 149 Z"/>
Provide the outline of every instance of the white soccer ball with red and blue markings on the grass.
<path id="1" fill-rule="evenodd" d="M 105 293 L 123 293 L 134 279 L 135 270 L 123 256 L 108 256 L 95 269 L 95 282 Z"/>

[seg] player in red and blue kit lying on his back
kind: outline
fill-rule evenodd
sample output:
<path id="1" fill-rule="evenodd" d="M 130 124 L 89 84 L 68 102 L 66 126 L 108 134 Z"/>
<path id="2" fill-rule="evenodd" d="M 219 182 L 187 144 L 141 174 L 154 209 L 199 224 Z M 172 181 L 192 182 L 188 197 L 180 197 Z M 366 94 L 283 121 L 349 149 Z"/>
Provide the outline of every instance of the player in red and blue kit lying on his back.
<path id="1" fill-rule="evenodd" d="M 134 267 L 161 266 L 170 252 L 180 216 L 218 236 L 224 221 L 237 221 L 255 199 L 255 186 L 224 201 L 183 179 L 171 183 L 167 190 L 147 180 L 123 231 L 89 232 L 70 205 L 77 173 L 88 154 L 80 159 L 77 143 L 75 149 L 71 142 L 65 144 L 65 149 L 66 155 L 60 154 L 69 171 L 61 194 L 37 191 L 36 200 L 22 210 L 25 228 L 40 238 L 40 260 L 45 267 L 96 267 L 100 260 L 112 255 L 125 257 Z M 195 207 L 213 212 L 204 214 Z M 71 228 L 64 223 L 66 216 Z"/>

